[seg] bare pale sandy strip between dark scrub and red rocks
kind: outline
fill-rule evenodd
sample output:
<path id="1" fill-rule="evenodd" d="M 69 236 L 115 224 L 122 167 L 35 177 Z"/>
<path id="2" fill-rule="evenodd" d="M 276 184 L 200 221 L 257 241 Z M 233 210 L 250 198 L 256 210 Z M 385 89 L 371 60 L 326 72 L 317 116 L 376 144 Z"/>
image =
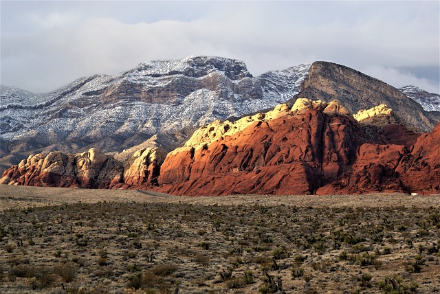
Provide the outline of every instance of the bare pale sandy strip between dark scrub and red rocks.
<path id="1" fill-rule="evenodd" d="M 409 196 L 408 194 L 365 195 L 233 195 L 233 196 L 172 196 L 146 194 L 137 190 L 87 190 L 72 188 L 41 188 L 0 185 L 0 210 L 40 207 L 63 203 L 97 203 L 101 201 L 139 203 L 192 203 L 199 205 L 295 205 L 312 207 L 440 207 L 440 196 Z"/>

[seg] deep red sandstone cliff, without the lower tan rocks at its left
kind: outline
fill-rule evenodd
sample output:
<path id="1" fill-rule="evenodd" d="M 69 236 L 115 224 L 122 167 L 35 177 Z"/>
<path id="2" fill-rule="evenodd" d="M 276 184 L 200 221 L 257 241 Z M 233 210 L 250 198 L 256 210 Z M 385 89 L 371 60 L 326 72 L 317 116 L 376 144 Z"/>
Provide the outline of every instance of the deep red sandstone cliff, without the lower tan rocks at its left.
<path id="1" fill-rule="evenodd" d="M 371 125 L 356 122 L 338 102 L 307 99 L 280 113 L 231 136 L 171 152 L 159 190 L 188 195 L 439 191 L 440 125 L 419 137 L 381 122 L 374 128 L 380 132 L 372 134 Z"/>

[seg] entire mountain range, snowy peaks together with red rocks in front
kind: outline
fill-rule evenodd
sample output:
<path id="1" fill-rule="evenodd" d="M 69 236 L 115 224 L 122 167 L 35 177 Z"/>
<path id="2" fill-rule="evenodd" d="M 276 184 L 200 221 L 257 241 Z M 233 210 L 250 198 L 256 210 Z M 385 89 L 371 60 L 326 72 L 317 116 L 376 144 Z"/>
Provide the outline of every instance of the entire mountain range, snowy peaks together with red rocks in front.
<path id="1" fill-rule="evenodd" d="M 155 60 L 48 94 L 2 87 L 1 101 L 1 160 L 19 164 L 0 183 L 188 195 L 439 191 L 440 96 L 334 63 L 253 77 L 228 58 Z"/>

